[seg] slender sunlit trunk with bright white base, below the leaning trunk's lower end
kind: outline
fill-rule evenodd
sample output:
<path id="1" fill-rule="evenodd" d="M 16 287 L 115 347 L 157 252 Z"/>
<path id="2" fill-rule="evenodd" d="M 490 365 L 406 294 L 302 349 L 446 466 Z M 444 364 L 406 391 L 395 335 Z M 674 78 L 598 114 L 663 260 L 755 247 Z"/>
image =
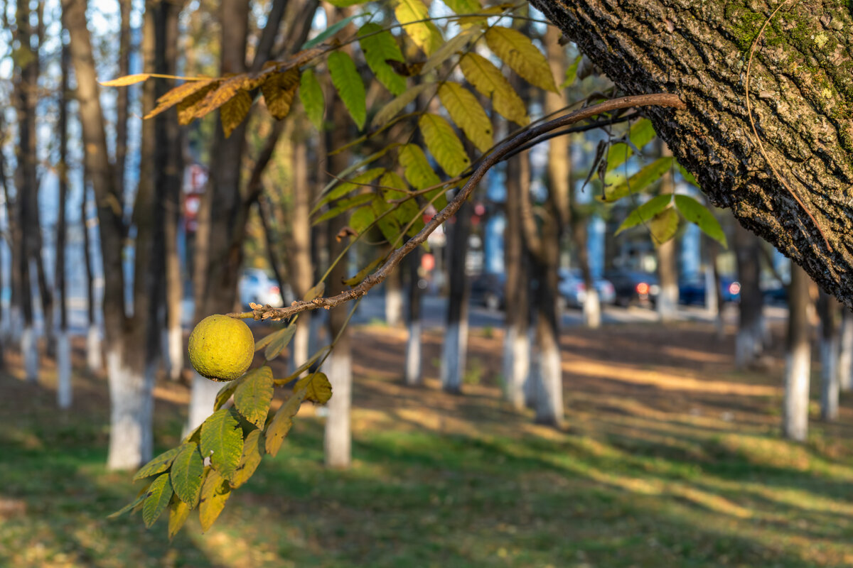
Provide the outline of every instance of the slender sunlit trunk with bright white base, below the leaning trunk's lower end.
<path id="1" fill-rule="evenodd" d="M 809 276 L 802 268 L 792 265 L 782 435 L 798 442 L 804 442 L 809 435 L 809 301 Z"/>

